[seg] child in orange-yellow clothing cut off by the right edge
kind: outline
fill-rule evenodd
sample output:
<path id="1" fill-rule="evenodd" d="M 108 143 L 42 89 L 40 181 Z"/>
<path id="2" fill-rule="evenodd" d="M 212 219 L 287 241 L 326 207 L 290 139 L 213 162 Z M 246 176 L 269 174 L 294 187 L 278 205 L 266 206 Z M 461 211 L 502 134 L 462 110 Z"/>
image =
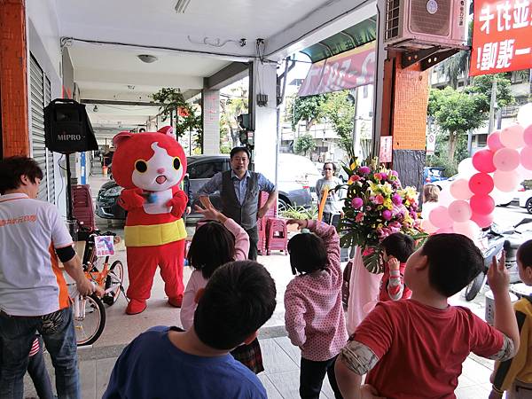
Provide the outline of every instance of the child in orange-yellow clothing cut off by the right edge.
<path id="1" fill-rule="evenodd" d="M 520 280 L 532 286 L 532 239 L 517 250 Z M 520 331 L 520 347 L 512 359 L 496 364 L 490 399 L 528 399 L 532 397 L 532 296 L 523 295 L 513 304 Z"/>

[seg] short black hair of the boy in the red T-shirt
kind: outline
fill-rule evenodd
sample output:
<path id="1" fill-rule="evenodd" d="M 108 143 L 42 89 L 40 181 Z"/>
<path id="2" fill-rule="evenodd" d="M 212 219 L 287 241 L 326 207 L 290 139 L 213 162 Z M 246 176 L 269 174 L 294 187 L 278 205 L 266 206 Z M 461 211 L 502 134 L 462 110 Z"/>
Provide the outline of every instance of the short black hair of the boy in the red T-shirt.
<path id="1" fill-rule="evenodd" d="M 428 282 L 450 297 L 484 270 L 484 258 L 473 240 L 461 234 L 435 234 L 426 239 L 421 254 L 428 261 Z"/>

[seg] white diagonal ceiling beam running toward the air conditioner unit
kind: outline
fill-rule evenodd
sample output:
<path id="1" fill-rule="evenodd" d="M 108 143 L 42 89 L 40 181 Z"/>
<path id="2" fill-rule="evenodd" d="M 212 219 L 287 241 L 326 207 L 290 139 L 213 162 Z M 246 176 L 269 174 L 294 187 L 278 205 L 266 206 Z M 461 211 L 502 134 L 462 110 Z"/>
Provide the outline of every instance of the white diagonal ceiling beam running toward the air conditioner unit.
<path id="1" fill-rule="evenodd" d="M 352 27 L 377 13 L 376 0 L 330 0 L 266 40 L 264 57 L 278 60 Z"/>

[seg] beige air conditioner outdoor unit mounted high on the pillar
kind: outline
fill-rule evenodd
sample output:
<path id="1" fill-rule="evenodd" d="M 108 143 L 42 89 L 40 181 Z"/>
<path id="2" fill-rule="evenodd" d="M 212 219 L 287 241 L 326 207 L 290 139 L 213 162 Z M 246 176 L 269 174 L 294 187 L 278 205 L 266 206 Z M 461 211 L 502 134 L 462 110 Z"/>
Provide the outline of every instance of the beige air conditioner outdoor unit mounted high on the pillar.
<path id="1" fill-rule="evenodd" d="M 460 48 L 465 43 L 465 0 L 386 0 L 388 47 Z"/>

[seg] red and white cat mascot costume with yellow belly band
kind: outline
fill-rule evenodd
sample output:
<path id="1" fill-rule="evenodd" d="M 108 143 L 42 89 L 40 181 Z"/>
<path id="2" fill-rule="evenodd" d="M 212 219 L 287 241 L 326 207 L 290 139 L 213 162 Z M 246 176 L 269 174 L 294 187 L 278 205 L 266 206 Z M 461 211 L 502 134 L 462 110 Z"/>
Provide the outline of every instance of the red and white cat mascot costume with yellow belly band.
<path id="1" fill-rule="evenodd" d="M 113 137 L 113 176 L 124 188 L 118 203 L 128 211 L 124 232 L 129 315 L 146 309 L 157 266 L 168 303 L 179 308 L 183 300 L 186 231 L 181 216 L 187 197 L 179 183 L 186 173 L 186 157 L 171 134 L 168 126 L 155 133 L 121 132 Z"/>

